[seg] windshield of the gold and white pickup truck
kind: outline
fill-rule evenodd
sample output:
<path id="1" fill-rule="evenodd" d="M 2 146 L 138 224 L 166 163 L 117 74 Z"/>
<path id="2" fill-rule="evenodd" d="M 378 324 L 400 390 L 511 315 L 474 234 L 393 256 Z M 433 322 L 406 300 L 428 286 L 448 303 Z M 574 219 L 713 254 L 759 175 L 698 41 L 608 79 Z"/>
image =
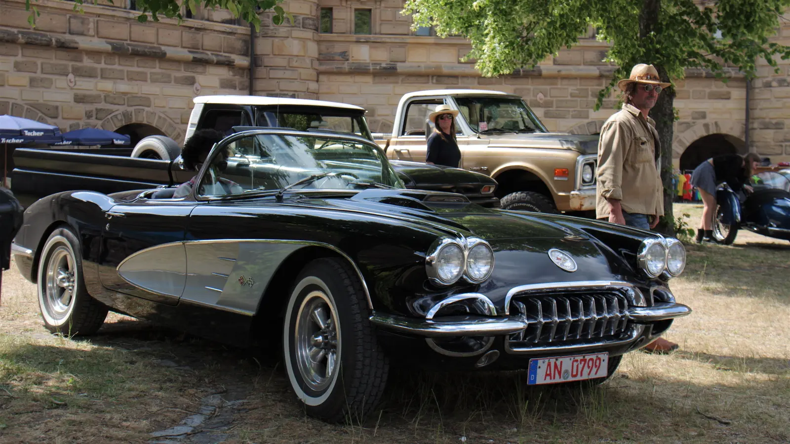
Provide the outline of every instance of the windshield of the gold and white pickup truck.
<path id="1" fill-rule="evenodd" d="M 455 102 L 472 131 L 476 133 L 546 132 L 546 128 L 524 100 L 512 97 L 457 96 Z"/>

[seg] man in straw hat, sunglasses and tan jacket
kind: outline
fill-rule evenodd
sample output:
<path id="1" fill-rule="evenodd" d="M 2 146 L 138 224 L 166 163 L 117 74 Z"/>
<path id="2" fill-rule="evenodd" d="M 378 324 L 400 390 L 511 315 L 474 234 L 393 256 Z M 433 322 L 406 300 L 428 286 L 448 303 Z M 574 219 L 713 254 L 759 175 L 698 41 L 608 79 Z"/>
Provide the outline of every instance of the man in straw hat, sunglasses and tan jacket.
<path id="1" fill-rule="evenodd" d="M 614 224 L 649 230 L 664 214 L 664 186 L 659 173 L 661 148 L 656 122 L 648 113 L 661 89 L 653 65 L 640 63 L 630 77 L 617 83 L 623 91 L 623 109 L 612 115 L 600 130 L 596 171 L 596 217 Z M 662 338 L 645 347 L 664 353 L 678 348 Z"/>

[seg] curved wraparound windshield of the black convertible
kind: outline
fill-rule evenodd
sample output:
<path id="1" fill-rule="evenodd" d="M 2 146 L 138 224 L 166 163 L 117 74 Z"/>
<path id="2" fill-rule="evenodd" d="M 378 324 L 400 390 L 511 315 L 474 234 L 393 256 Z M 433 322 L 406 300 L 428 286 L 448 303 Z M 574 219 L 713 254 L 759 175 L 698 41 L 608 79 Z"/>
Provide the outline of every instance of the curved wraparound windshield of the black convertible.
<path id="1" fill-rule="evenodd" d="M 345 137 L 247 134 L 214 147 L 199 196 L 404 188 L 381 149 Z"/>

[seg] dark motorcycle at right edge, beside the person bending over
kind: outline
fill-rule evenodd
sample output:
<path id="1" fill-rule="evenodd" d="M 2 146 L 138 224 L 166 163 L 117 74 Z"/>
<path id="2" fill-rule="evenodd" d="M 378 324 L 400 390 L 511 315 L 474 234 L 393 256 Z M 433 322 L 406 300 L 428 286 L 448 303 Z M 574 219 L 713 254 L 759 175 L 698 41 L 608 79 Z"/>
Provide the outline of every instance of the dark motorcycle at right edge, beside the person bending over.
<path id="1" fill-rule="evenodd" d="M 740 228 L 790 240 L 790 179 L 774 171 L 752 177 L 751 194 L 735 193 L 722 183 L 716 191 L 713 239 L 730 245 Z"/>

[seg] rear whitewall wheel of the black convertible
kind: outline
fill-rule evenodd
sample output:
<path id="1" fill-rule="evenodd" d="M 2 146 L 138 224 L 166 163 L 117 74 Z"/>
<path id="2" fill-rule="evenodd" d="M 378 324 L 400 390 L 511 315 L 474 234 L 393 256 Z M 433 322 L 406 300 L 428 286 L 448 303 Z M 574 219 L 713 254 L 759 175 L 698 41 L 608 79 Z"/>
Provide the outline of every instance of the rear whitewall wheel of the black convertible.
<path id="1" fill-rule="evenodd" d="M 107 317 L 107 306 L 85 288 L 77 236 L 58 228 L 41 251 L 37 282 L 44 326 L 68 337 L 96 333 Z"/>

